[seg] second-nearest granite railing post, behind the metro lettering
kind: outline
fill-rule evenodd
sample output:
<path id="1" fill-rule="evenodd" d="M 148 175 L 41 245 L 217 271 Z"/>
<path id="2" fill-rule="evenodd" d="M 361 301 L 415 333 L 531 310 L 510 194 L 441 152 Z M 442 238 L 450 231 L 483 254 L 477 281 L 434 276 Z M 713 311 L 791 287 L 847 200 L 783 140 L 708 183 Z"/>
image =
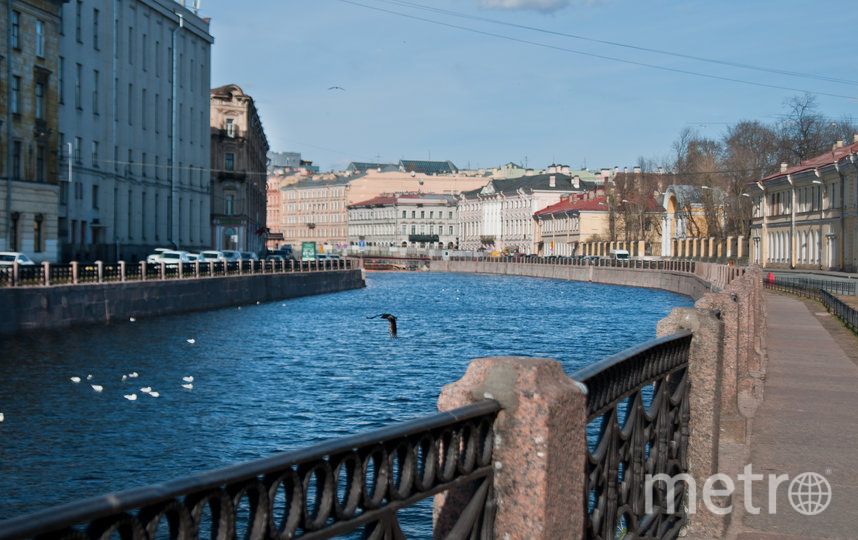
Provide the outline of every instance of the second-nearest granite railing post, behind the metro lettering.
<path id="1" fill-rule="evenodd" d="M 715 312 L 702 308 L 674 308 L 659 321 L 657 335 L 667 336 L 691 330 L 694 338 L 688 354 L 689 420 L 688 474 L 697 486 L 695 512 L 689 512 L 687 531 L 694 538 L 723 538 L 729 514 L 709 511 L 703 500 L 703 486 L 718 472 L 718 444 L 721 429 L 721 371 L 724 323 Z M 708 504 L 726 508 L 731 498 L 713 497 Z M 690 505 L 690 502 L 687 502 Z"/>

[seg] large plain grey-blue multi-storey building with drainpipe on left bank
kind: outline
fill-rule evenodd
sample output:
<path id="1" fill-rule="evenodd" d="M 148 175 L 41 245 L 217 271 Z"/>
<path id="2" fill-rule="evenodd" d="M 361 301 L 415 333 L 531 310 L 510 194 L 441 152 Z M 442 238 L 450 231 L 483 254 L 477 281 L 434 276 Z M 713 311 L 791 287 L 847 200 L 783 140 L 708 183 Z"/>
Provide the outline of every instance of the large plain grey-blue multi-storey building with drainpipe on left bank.
<path id="1" fill-rule="evenodd" d="M 62 258 L 209 246 L 208 22 L 183 1 L 72 0 L 61 28 Z"/>

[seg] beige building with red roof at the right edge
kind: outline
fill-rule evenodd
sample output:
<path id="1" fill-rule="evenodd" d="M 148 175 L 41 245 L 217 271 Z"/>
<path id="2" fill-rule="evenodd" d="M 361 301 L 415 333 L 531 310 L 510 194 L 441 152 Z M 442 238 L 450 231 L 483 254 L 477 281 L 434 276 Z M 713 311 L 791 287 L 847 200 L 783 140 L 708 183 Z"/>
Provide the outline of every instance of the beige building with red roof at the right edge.
<path id="1" fill-rule="evenodd" d="M 770 268 L 858 270 L 858 134 L 749 185 L 750 260 Z"/>

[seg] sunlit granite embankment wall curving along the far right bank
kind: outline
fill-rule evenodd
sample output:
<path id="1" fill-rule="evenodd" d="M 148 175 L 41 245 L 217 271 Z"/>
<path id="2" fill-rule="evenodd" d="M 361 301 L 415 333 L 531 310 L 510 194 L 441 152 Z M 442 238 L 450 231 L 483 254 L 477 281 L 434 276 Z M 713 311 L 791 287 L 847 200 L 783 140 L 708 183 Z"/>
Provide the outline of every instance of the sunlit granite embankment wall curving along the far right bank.
<path id="1" fill-rule="evenodd" d="M 613 268 L 609 266 L 575 266 L 533 264 L 502 261 L 431 261 L 430 270 L 436 272 L 462 272 L 469 274 L 504 274 L 571 281 L 588 281 L 605 285 L 625 285 L 662 289 L 699 300 L 710 291 L 710 283 L 687 272 L 646 270 L 641 268 Z"/>

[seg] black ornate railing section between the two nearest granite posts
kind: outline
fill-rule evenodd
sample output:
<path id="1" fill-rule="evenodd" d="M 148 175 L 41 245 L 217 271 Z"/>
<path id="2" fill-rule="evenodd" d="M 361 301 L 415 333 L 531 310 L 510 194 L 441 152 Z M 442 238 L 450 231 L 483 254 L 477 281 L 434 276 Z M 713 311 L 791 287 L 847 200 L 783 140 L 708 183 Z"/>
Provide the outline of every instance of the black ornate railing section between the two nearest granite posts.
<path id="1" fill-rule="evenodd" d="M 655 484 L 648 513 L 645 487 L 647 475 L 688 472 L 691 337 L 684 331 L 648 341 L 572 375 L 587 386 L 594 439 L 588 451 L 588 538 L 675 538 L 685 524 L 683 490 L 671 501 L 665 486 Z"/>

